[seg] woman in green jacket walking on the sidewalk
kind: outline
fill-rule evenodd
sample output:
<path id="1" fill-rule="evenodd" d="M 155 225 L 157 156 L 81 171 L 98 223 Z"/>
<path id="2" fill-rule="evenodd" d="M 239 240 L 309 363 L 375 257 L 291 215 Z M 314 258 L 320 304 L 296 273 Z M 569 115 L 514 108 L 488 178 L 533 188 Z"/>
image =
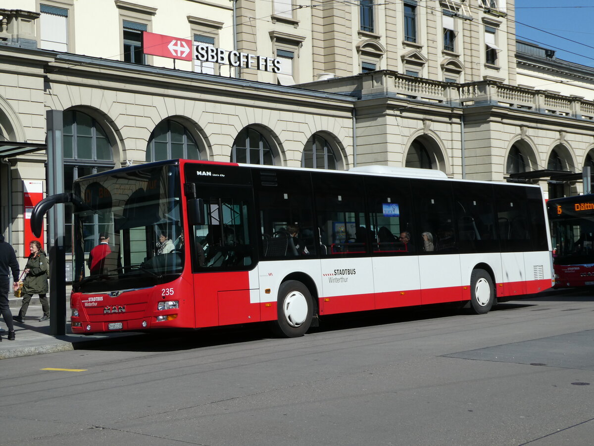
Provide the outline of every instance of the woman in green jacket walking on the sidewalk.
<path id="1" fill-rule="evenodd" d="M 25 266 L 26 276 L 23 281 L 23 305 L 18 312 L 18 316 L 12 316 L 12 319 L 20 323 L 25 321 L 25 315 L 27 314 L 29 302 L 33 294 L 39 294 L 39 301 L 43 309 L 43 316 L 39 319 L 39 322 L 49 319 L 49 300 L 47 297 L 48 257 L 46 257 L 45 252 L 41 249 L 41 243 L 37 240 L 31 241 L 29 249 L 31 250 L 31 255 L 29 256 L 29 260 L 27 260 L 27 266 Z"/>

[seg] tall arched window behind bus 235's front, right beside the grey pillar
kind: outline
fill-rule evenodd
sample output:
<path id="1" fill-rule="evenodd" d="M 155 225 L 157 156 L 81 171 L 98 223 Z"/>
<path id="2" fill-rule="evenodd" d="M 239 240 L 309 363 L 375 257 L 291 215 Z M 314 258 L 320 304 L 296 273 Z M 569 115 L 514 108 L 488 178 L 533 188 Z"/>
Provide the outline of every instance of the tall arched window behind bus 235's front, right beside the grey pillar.
<path id="1" fill-rule="evenodd" d="M 97 121 L 81 111 L 65 111 L 64 120 L 64 191 L 72 192 L 74 180 L 113 169 L 113 151 L 109 138 Z M 66 252 L 72 250 L 72 204 L 64 205 Z M 97 242 L 97 234 L 108 230 L 97 215 L 84 222 L 85 251 Z"/>

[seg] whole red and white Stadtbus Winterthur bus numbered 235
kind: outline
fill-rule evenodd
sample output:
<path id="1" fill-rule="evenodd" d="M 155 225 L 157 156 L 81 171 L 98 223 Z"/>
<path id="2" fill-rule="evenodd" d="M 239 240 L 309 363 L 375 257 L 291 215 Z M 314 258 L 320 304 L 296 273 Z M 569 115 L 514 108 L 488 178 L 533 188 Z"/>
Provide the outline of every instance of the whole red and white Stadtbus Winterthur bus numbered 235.
<path id="1" fill-rule="evenodd" d="M 297 337 L 320 316 L 444 302 L 482 314 L 552 286 L 536 186 L 172 160 L 79 178 L 68 201 L 74 333 L 271 321 Z M 110 253 L 91 272 L 99 234 Z"/>

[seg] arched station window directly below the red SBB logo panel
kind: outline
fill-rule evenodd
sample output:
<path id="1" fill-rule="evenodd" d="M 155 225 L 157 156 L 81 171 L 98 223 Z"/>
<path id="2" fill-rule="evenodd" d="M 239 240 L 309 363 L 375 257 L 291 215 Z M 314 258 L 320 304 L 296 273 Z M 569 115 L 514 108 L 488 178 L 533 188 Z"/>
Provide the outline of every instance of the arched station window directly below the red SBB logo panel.
<path id="1" fill-rule="evenodd" d="M 161 121 L 150 135 L 146 161 L 176 158 L 200 159 L 198 145 L 183 125 L 172 120 Z"/>

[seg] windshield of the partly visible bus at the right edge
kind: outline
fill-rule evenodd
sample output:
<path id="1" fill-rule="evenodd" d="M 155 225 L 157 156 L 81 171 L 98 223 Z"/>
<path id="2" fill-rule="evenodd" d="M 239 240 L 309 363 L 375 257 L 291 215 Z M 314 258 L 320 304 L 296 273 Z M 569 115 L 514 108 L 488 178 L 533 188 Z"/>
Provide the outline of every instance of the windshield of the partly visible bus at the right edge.
<path id="1" fill-rule="evenodd" d="M 594 215 L 565 217 L 552 221 L 555 263 L 593 263 Z"/>

